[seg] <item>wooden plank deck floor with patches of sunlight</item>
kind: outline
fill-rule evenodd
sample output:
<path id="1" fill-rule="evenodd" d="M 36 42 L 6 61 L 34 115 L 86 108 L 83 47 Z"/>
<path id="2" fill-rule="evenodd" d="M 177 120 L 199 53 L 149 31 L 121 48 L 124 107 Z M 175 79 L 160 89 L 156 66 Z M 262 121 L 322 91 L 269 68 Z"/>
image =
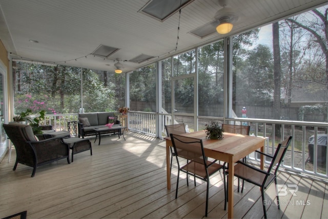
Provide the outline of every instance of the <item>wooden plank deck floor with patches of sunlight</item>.
<path id="1" fill-rule="evenodd" d="M 172 189 L 166 188 L 165 141 L 129 132 L 127 141 L 117 136 L 101 138 L 93 155 L 82 152 L 74 162 L 66 159 L 37 168 L 18 164 L 12 170 L 15 151 L 0 163 L 0 218 L 27 210 L 28 218 L 202 218 L 206 183 L 197 180 L 187 187 L 180 175 L 175 199 L 176 167 L 172 169 Z M 190 182 L 192 180 L 190 179 Z M 266 194 L 270 218 L 327 218 L 328 184 L 281 172 L 281 185 L 297 185 L 280 192 L 281 209 L 275 186 Z M 235 180 L 235 189 L 237 182 Z M 285 193 L 285 194 L 283 194 Z M 294 193 L 294 195 L 293 195 Z M 222 174 L 211 177 L 208 218 L 227 218 L 223 210 Z M 258 187 L 245 184 L 235 191 L 234 216 L 261 218 L 263 210 Z"/>

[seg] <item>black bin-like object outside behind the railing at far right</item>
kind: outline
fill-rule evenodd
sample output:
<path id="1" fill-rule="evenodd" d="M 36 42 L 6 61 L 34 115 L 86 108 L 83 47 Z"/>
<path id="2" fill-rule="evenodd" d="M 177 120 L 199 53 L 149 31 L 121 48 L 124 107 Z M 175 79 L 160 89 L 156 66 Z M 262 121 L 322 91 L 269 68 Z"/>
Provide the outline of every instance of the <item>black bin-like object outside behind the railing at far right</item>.
<path id="1" fill-rule="evenodd" d="M 327 154 L 327 138 L 328 134 L 318 134 L 317 135 L 317 161 L 318 164 L 325 165 L 326 164 L 326 154 Z M 313 148 L 314 148 L 314 135 L 309 138 L 309 162 L 313 163 Z"/>

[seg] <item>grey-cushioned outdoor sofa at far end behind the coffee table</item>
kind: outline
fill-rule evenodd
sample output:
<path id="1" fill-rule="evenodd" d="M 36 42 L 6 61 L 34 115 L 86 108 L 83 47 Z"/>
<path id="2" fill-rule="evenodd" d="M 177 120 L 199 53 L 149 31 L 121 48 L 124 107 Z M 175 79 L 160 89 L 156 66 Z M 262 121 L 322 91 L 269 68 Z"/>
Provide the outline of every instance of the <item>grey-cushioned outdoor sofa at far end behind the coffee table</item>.
<path id="1" fill-rule="evenodd" d="M 89 112 L 78 114 L 78 137 L 96 135 L 94 128 L 103 128 L 108 123 L 119 125 L 116 112 Z M 108 130 L 108 133 L 115 134 L 118 130 Z M 104 133 L 104 132 L 103 132 Z"/>

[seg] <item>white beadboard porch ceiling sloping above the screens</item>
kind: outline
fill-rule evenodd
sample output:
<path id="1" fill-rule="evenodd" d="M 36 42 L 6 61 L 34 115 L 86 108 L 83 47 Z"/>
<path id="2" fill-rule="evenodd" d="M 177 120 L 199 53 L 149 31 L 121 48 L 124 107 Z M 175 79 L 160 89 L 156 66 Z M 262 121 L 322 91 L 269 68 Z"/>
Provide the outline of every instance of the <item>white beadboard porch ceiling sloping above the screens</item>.
<path id="1" fill-rule="evenodd" d="M 129 72 L 228 35 L 215 28 L 203 37 L 191 33 L 215 21 L 218 0 L 190 1 L 180 16 L 177 11 L 164 21 L 141 12 L 151 2 L 0 0 L 0 38 L 12 57 L 104 71 L 114 71 L 118 60 Z M 326 0 L 230 0 L 239 19 L 229 35 L 320 4 Z M 110 51 L 96 51 L 101 45 Z"/>

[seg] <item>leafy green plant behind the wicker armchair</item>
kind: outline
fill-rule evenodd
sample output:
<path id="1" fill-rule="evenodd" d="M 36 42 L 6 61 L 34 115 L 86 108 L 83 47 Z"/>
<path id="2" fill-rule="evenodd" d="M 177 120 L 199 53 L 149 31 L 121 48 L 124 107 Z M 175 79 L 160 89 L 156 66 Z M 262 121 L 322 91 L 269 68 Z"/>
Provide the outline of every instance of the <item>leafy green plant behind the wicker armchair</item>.
<path id="1" fill-rule="evenodd" d="M 25 112 L 21 112 L 19 115 L 15 116 L 13 119 L 15 122 L 27 122 L 32 127 L 34 134 L 42 134 L 42 127 L 39 126 L 39 123 L 45 119 L 45 114 L 45 110 L 32 114 L 32 110 L 27 109 Z"/>

